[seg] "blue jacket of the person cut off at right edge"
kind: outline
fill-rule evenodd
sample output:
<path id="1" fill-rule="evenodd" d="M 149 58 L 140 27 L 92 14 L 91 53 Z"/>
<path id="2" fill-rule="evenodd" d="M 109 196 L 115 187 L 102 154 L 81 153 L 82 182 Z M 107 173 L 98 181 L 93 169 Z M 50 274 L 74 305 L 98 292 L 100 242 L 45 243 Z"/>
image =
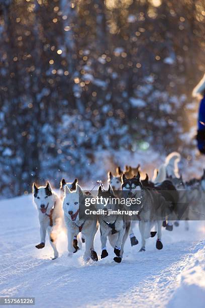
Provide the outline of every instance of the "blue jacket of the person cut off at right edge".
<path id="1" fill-rule="evenodd" d="M 205 154 L 205 96 L 202 98 L 199 106 L 196 139 L 199 151 Z"/>

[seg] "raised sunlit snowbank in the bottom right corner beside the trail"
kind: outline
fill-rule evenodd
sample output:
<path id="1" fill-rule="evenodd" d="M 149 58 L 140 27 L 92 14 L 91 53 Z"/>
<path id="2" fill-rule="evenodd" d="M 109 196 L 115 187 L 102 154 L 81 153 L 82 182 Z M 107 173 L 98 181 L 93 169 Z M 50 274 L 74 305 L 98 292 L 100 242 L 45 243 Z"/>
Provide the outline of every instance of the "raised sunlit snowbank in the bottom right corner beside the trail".
<path id="1" fill-rule="evenodd" d="M 205 240 L 198 243 L 180 274 L 180 285 L 168 308 L 202 308 L 205 305 Z"/>

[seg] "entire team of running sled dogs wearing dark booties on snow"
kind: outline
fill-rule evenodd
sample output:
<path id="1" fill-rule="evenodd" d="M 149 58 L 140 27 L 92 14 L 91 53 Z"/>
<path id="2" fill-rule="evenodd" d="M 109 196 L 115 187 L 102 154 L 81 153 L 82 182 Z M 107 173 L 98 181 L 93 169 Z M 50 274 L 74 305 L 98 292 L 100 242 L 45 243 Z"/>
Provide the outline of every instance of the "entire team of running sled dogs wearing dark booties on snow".
<path id="1" fill-rule="evenodd" d="M 98 196 L 115 197 L 118 191 L 126 191 L 133 198 L 140 196 L 141 204 L 137 205 L 136 208 L 139 212 L 140 252 L 145 251 L 146 239 L 155 237 L 156 234 L 156 248 L 162 249 L 162 225 L 167 230 L 171 231 L 173 229 L 172 221 L 169 221 L 166 214 L 163 220 L 153 220 L 153 215 L 158 211 L 159 207 L 163 208 L 165 203 L 174 206 L 174 204 L 181 201 L 178 200 L 180 197 L 173 200 L 173 196 L 168 193 L 169 191 L 177 192 L 178 190 L 189 189 L 197 194 L 198 191 L 205 190 L 205 171 L 200 179 L 192 179 L 184 183 L 178 173 L 179 161 L 179 153 L 172 152 L 168 155 L 165 163 L 160 166 L 158 171 L 154 172 L 152 182 L 149 181 L 147 174 L 144 180 L 140 179 L 139 165 L 136 168 L 126 166 L 124 172 L 118 167 L 116 176 L 111 172 L 108 173 L 108 190 L 102 189 L 101 186 L 98 188 Z M 195 190 L 196 192 L 194 192 Z M 153 191 L 156 191 L 156 193 L 153 194 Z M 47 232 L 54 251 L 53 259 L 56 259 L 58 257 L 56 247 L 58 234 L 66 226 L 69 254 L 76 253 L 79 250 L 78 242 L 82 241 L 85 243 L 84 260 L 88 261 L 91 258 L 97 261 L 98 257 L 94 250 L 94 238 L 99 226 L 101 259 L 108 256 L 106 244 L 107 239 L 109 239 L 114 249 L 114 261 L 120 263 L 123 258 L 124 245 L 127 238 L 130 237 L 131 246 L 138 244 L 138 240 L 133 232 L 135 222 L 122 219 L 118 215 L 108 216 L 106 211 L 113 208 L 111 203 L 108 203 L 106 208 L 104 204 L 96 205 L 96 209 L 104 208 L 104 215 L 96 216 L 92 220 L 79 218 L 79 202 L 83 201 L 86 197 L 87 193 L 85 194 L 82 191 L 81 187 L 77 184 L 77 179 L 72 183 L 66 183 L 64 179 L 61 181 L 60 197 L 52 190 L 49 182 L 47 182 L 45 187 L 37 187 L 35 183 L 33 184 L 33 198 L 40 222 L 40 244 L 36 248 L 42 249 L 45 247 Z M 154 225 L 157 229 L 156 232 L 151 231 Z M 174 225 L 177 226 L 178 221 L 175 221 Z M 188 225 L 186 228 L 188 228 Z M 81 239 L 79 237 L 80 233 Z"/>

